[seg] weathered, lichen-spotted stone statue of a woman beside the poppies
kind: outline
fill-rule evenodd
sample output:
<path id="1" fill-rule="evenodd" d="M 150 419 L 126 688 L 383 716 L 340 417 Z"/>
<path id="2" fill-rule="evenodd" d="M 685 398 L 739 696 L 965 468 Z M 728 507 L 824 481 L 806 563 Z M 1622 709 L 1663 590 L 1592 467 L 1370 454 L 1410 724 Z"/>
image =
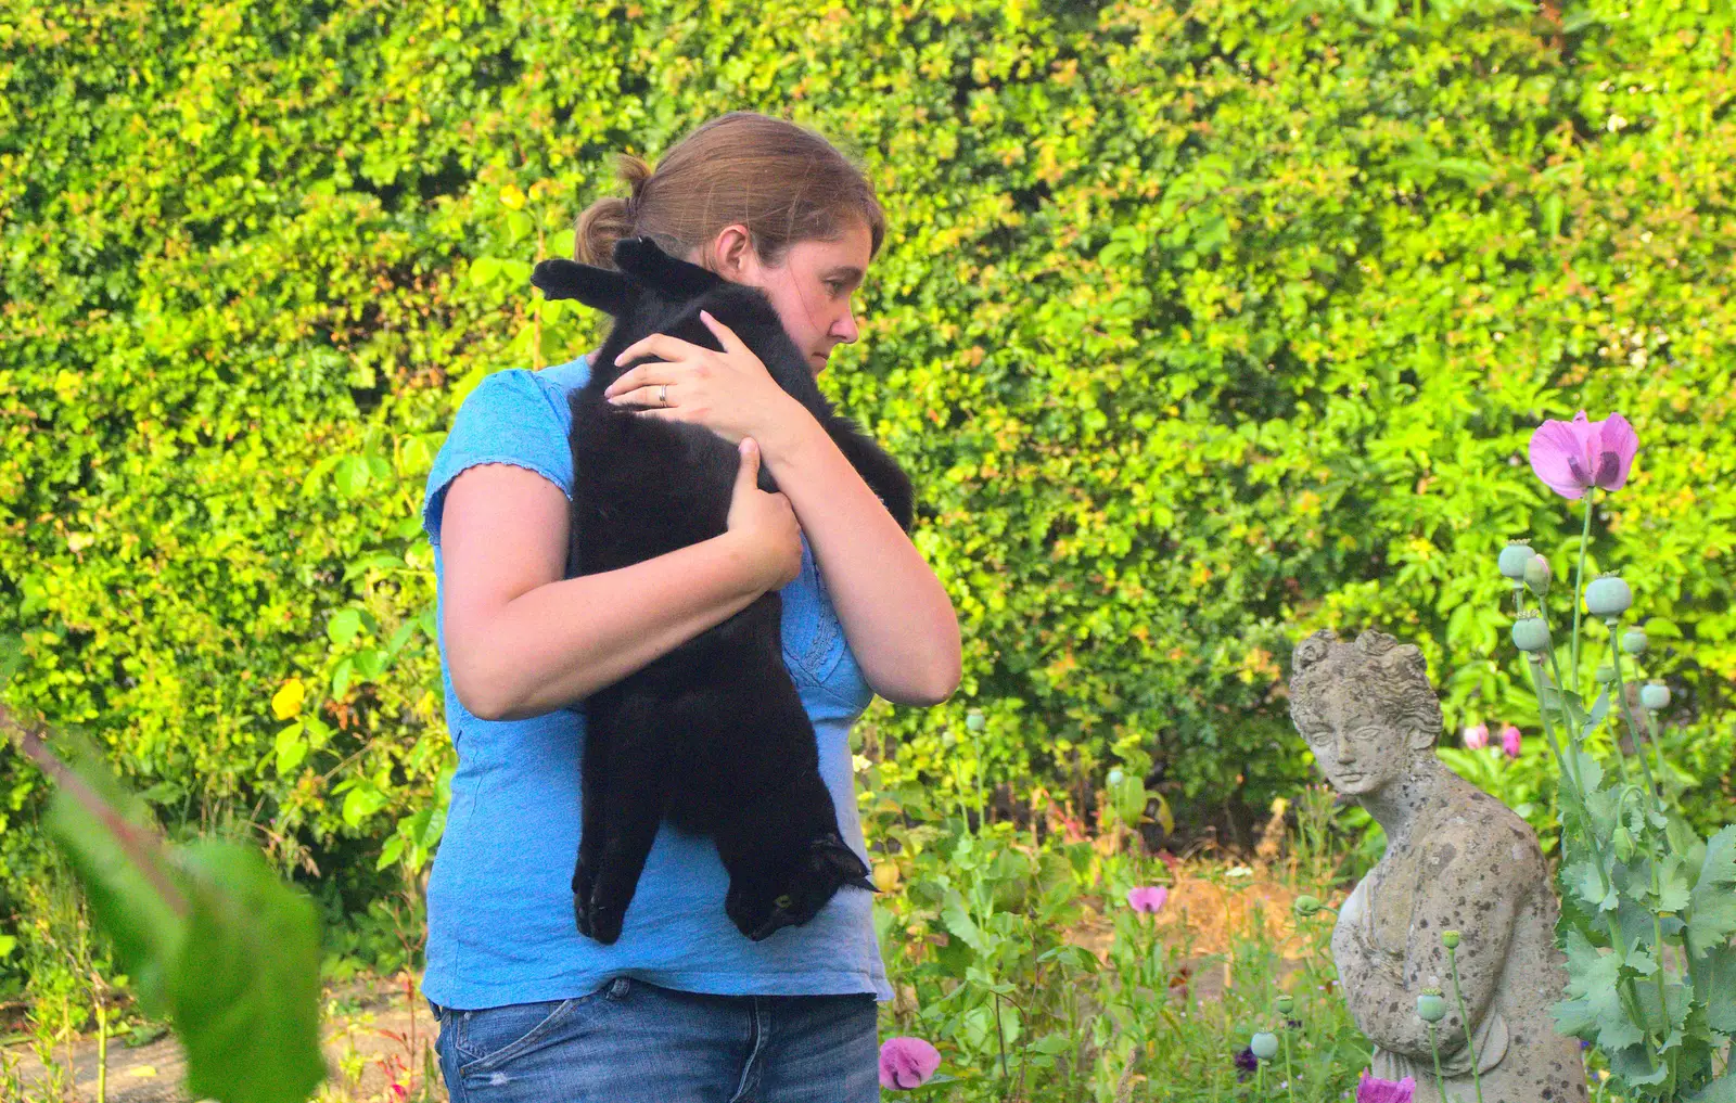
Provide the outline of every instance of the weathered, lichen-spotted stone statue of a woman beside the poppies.
<path id="1" fill-rule="evenodd" d="M 1458 982 L 1484 1103 L 1578 1103 L 1578 1042 L 1555 1034 L 1566 963 L 1557 904 L 1531 827 L 1448 770 L 1434 753 L 1441 702 L 1422 652 L 1364 631 L 1342 643 L 1319 631 L 1297 645 L 1290 718 L 1332 787 L 1368 808 L 1387 852 L 1338 910 L 1332 954 L 1356 1025 L 1375 1046 L 1377 1077 L 1436 1093 L 1425 989 L 1446 995 L 1436 1025 L 1448 1100 L 1474 1103 L 1472 1051 L 1453 999 L 1441 931 L 1458 931 Z"/>

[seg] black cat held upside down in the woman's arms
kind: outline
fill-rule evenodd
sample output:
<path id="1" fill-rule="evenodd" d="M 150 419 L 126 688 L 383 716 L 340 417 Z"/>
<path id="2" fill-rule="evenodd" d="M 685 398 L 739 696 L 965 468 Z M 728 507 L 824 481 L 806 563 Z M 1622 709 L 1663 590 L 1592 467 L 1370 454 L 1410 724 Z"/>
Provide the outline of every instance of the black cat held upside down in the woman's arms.
<path id="1" fill-rule="evenodd" d="M 568 574 L 595 574 L 719 536 L 741 456 L 698 425 L 611 406 L 604 388 L 634 364 L 615 357 L 667 333 L 719 349 L 700 310 L 760 357 L 856 467 L 906 531 L 910 479 L 819 394 L 807 357 L 755 288 L 663 253 L 649 238 L 615 246 L 618 271 L 543 260 L 531 283 L 615 316 L 571 394 L 573 538 Z M 760 468 L 760 489 L 776 491 Z M 620 938 L 661 820 L 710 834 L 729 871 L 724 909 L 755 942 L 807 923 L 838 891 L 868 888 L 868 869 L 838 836 L 819 777 L 814 728 L 779 638 L 776 591 L 585 699 L 583 826 L 573 869 L 580 933 Z"/>

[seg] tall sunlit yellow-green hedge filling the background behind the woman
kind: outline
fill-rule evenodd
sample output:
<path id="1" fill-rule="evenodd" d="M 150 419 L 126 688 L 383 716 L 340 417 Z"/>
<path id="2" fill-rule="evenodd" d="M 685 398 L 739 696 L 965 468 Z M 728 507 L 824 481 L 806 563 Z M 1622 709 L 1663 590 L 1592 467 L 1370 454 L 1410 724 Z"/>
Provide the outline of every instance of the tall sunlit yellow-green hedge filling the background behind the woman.
<path id="1" fill-rule="evenodd" d="M 983 708 L 990 779 L 1137 747 L 1184 822 L 1264 805 L 1321 624 L 1424 643 L 1455 725 L 1526 723 L 1493 557 L 1566 576 L 1522 456 L 1583 406 L 1639 428 L 1592 555 L 1677 628 L 1653 673 L 1726 815 L 1719 0 L 38 2 L 0 42 L 9 697 L 333 919 L 439 831 L 432 449 L 483 375 L 595 338 L 526 274 L 609 154 L 734 108 L 856 151 L 891 219 L 825 385 L 915 475 L 967 640 L 951 702 L 863 725 L 896 775 L 951 784 Z M 0 793 L 17 976 L 52 952 L 10 751 Z"/>

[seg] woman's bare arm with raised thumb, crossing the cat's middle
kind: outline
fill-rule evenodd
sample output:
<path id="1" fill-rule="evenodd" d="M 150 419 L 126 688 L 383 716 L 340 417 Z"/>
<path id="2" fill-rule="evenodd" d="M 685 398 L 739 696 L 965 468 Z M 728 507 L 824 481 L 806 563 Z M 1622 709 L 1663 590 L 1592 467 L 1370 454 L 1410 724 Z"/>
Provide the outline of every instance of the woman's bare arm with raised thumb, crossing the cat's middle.
<path id="1" fill-rule="evenodd" d="M 783 494 L 753 486 L 743 442 L 729 531 L 656 558 L 562 578 L 568 501 L 509 465 L 458 475 L 441 513 L 446 666 L 481 720 L 568 706 L 625 678 L 745 609 L 802 569 L 800 531 Z"/>

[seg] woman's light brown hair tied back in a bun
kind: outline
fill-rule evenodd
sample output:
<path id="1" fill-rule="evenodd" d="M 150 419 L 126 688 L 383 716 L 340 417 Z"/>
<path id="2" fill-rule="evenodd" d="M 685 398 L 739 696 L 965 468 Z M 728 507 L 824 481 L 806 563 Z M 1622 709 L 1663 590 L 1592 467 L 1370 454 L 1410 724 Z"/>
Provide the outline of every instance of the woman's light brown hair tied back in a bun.
<path id="1" fill-rule="evenodd" d="M 795 123 L 731 111 L 675 142 L 656 170 L 621 154 L 627 196 L 597 199 L 578 217 L 573 257 L 615 267 L 615 243 L 651 238 L 701 264 L 726 225 L 745 225 L 769 265 L 799 241 L 833 241 L 851 219 L 868 225 L 870 255 L 885 239 L 885 213 L 861 170 L 825 137 Z"/>

